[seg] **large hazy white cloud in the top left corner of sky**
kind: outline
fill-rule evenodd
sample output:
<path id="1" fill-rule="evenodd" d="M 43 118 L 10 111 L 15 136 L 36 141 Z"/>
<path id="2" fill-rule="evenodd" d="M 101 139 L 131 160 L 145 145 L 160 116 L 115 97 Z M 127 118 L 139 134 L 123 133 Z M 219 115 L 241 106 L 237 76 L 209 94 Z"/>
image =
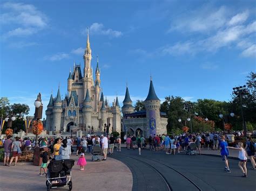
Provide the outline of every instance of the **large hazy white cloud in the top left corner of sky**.
<path id="1" fill-rule="evenodd" d="M 8 2 L 2 8 L 0 23 L 13 28 L 3 34 L 4 38 L 30 36 L 47 26 L 48 18 L 33 5 Z"/>

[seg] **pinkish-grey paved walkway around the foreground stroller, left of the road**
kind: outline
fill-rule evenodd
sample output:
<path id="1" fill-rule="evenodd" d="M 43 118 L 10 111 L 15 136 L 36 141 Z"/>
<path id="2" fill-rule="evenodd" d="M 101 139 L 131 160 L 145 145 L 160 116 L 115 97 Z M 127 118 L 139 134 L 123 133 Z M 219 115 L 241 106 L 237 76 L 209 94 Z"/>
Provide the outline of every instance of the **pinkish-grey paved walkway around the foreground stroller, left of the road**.
<path id="1" fill-rule="evenodd" d="M 106 161 L 92 162 L 91 154 L 86 154 L 85 171 L 79 171 L 74 159 L 72 168 L 72 190 L 131 190 L 132 173 L 122 162 L 107 158 Z M 5 167 L 0 163 L 0 190 L 46 190 L 45 176 L 39 176 L 39 167 L 33 165 L 18 165 Z M 65 187 L 53 190 L 68 190 Z"/>

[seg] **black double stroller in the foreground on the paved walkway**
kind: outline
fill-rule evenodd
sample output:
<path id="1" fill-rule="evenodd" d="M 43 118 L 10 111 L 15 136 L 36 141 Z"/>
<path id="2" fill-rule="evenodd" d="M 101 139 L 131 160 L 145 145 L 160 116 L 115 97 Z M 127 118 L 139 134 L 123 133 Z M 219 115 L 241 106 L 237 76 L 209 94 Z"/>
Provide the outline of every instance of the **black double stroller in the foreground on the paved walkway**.
<path id="1" fill-rule="evenodd" d="M 51 188 L 69 187 L 72 190 L 71 169 L 74 166 L 75 160 L 53 160 L 48 165 L 46 174 L 46 187 L 49 191 Z"/>

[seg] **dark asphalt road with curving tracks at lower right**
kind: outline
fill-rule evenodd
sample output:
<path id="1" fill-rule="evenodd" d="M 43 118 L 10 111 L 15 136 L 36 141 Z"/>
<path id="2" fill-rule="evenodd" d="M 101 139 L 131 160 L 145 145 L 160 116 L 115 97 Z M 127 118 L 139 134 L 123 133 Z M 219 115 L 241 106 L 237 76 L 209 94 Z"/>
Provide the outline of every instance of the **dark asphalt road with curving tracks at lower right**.
<path id="1" fill-rule="evenodd" d="M 166 155 L 153 152 L 126 150 L 112 158 L 124 162 L 133 175 L 132 190 L 256 190 L 256 171 L 247 162 L 247 178 L 242 178 L 238 160 L 229 159 L 231 173 L 224 172 L 219 157 L 207 155 Z"/>

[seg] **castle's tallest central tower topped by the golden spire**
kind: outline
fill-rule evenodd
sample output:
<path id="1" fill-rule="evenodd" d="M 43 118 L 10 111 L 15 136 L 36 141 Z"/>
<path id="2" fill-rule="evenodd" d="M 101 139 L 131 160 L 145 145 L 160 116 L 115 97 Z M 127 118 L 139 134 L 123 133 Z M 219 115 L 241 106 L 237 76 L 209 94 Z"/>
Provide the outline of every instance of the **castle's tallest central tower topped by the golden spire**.
<path id="1" fill-rule="evenodd" d="M 83 79 L 84 98 L 86 95 L 86 89 L 89 89 L 90 91 L 91 87 L 93 86 L 91 59 L 92 59 L 92 55 L 91 55 L 91 46 L 90 46 L 90 40 L 89 40 L 89 29 L 88 29 L 87 43 L 84 51 L 84 79 Z"/>

